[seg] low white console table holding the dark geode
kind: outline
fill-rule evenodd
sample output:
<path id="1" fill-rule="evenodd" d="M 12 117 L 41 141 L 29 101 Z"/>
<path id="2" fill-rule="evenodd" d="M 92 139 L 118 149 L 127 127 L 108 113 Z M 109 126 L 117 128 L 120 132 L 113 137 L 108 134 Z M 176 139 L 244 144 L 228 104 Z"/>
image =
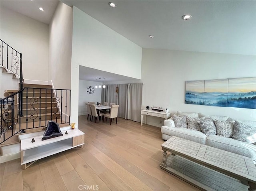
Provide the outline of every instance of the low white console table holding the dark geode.
<path id="1" fill-rule="evenodd" d="M 65 134 L 65 132 L 68 134 Z M 53 154 L 84 145 L 84 132 L 78 129 L 64 129 L 61 132 L 63 136 L 50 138 L 42 141 L 42 133 L 31 133 L 20 139 L 21 145 L 21 165 L 22 169 L 26 169 L 36 160 L 51 156 Z M 32 136 L 33 134 L 33 136 Z M 34 138 L 35 142 L 31 142 Z M 29 163 L 29 164 L 28 164 Z M 28 165 L 27 165 L 28 164 Z"/>

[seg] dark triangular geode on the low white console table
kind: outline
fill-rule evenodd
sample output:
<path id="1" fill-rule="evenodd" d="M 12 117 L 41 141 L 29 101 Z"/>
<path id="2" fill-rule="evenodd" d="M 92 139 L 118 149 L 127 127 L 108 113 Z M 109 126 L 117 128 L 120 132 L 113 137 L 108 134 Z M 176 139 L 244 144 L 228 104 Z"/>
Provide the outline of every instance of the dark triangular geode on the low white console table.
<path id="1" fill-rule="evenodd" d="M 56 123 L 55 121 L 48 121 L 48 125 L 44 132 L 42 141 L 54 137 L 59 137 L 62 135 L 63 134 L 60 131 L 60 126 L 58 125 L 58 123 Z"/>

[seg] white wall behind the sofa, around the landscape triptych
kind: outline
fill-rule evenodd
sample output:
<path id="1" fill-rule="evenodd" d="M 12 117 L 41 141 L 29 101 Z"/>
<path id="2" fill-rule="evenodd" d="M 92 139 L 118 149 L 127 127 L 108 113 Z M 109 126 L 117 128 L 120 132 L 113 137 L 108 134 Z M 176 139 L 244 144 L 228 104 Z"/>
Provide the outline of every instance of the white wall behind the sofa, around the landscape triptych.
<path id="1" fill-rule="evenodd" d="M 157 64 L 156 64 L 157 63 Z M 256 76 L 256 57 L 220 53 L 142 49 L 142 108 L 161 106 L 170 112 L 202 112 L 256 120 L 256 110 L 185 104 L 185 81 Z M 158 118 L 150 118 L 159 124 Z"/>

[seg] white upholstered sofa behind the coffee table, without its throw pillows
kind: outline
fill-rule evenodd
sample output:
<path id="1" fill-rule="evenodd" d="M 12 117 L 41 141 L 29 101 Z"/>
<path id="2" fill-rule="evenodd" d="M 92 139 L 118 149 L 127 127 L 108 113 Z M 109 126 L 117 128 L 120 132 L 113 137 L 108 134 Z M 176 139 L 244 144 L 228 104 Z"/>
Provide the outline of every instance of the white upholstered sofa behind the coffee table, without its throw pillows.
<path id="1" fill-rule="evenodd" d="M 176 116 L 190 116 L 190 117 L 204 117 L 205 119 L 211 118 L 212 120 L 234 120 L 228 118 L 226 116 L 207 116 L 201 113 L 185 113 L 178 112 L 175 114 Z M 252 126 L 256 129 L 256 121 L 246 121 L 239 120 L 239 122 L 246 124 L 248 126 Z M 212 146 L 214 148 L 226 150 L 228 152 L 240 154 L 243 156 L 247 156 L 256 161 L 256 145 L 243 142 L 239 140 L 235 140 L 230 137 L 223 137 L 218 135 L 206 135 L 202 131 L 199 130 L 191 130 L 188 128 L 175 127 L 175 122 L 173 117 L 164 120 L 164 126 L 161 128 L 162 138 L 163 140 L 168 140 L 172 136 L 184 138 L 186 140 L 191 140 L 194 142 L 198 142 L 200 144 L 205 144 L 208 146 Z M 255 135 L 256 136 L 256 135 Z"/>

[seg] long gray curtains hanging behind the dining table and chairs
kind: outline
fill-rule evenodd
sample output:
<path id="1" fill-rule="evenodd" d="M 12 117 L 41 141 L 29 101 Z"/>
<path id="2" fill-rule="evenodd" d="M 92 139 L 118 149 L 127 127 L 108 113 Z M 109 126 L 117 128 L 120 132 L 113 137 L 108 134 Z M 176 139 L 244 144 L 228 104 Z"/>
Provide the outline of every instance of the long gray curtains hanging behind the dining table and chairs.
<path id="1" fill-rule="evenodd" d="M 114 102 L 119 106 L 118 117 L 140 122 L 143 83 L 106 85 L 101 102 Z M 118 93 L 116 93 L 118 87 Z"/>

